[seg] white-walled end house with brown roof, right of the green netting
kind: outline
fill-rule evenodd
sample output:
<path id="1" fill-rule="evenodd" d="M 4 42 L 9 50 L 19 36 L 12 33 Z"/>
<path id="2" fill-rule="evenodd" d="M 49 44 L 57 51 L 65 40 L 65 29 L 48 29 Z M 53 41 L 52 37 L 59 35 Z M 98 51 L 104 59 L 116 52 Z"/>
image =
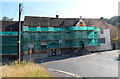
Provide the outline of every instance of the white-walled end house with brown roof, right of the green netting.
<path id="1" fill-rule="evenodd" d="M 83 19 L 87 26 L 99 28 L 100 46 L 94 47 L 94 51 L 111 50 L 110 28 L 103 19 Z M 93 49 L 89 49 L 93 50 Z"/>

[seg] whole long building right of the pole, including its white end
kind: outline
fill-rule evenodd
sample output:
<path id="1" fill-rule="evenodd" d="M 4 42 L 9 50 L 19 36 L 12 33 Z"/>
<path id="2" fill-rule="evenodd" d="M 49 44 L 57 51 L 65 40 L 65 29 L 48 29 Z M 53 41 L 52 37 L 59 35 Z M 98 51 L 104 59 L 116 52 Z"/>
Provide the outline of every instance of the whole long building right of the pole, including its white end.
<path id="1" fill-rule="evenodd" d="M 13 28 L 18 29 L 18 26 Z M 16 37 L 17 31 L 14 31 Z M 12 34 L 13 30 L 9 32 Z M 3 36 L 3 33 L 1 35 Z M 21 53 L 26 60 L 29 59 L 30 52 L 35 59 L 63 54 L 80 55 L 85 51 L 111 50 L 110 30 L 102 19 L 59 18 L 58 15 L 55 18 L 25 16 L 21 35 Z M 17 41 L 14 42 L 17 49 Z"/>

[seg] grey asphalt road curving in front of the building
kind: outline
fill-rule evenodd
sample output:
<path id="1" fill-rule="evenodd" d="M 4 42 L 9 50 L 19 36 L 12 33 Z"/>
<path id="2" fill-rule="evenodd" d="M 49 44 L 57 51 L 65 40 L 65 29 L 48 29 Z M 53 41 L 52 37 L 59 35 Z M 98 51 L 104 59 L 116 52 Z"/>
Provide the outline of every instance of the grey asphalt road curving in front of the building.
<path id="1" fill-rule="evenodd" d="M 118 50 L 54 60 L 45 63 L 45 68 L 74 73 L 81 77 L 118 77 Z"/>

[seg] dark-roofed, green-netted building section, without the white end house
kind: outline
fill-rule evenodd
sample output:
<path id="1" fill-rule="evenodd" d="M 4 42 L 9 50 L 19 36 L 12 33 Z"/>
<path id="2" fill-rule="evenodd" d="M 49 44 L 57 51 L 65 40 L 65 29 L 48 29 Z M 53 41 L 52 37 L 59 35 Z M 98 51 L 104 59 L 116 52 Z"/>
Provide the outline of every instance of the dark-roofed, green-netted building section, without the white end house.
<path id="1" fill-rule="evenodd" d="M 23 24 L 22 50 L 27 54 L 32 46 L 34 53 L 50 56 L 75 53 L 78 49 L 100 46 L 99 31 L 80 19 L 28 16 Z"/>

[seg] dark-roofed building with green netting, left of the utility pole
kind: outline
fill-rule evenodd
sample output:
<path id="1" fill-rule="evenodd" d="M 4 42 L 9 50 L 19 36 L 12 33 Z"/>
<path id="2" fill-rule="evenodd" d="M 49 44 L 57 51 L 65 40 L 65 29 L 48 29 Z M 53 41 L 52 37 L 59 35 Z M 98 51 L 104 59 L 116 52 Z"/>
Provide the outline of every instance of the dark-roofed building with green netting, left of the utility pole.
<path id="1" fill-rule="evenodd" d="M 17 59 L 18 21 L 0 21 L 0 56 L 2 63 Z"/>

